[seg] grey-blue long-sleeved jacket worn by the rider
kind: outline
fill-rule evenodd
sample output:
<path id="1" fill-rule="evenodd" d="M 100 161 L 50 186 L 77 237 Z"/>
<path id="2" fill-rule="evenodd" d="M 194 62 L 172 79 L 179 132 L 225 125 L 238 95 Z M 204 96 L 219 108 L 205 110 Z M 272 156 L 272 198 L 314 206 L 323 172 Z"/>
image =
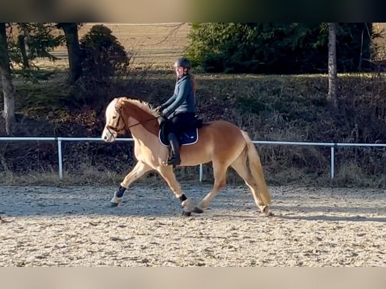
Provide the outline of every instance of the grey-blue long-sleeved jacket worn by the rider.
<path id="1" fill-rule="evenodd" d="M 190 75 L 177 79 L 174 94 L 162 104 L 162 114 L 170 118 L 180 112 L 196 113 L 195 96 L 190 80 Z"/>

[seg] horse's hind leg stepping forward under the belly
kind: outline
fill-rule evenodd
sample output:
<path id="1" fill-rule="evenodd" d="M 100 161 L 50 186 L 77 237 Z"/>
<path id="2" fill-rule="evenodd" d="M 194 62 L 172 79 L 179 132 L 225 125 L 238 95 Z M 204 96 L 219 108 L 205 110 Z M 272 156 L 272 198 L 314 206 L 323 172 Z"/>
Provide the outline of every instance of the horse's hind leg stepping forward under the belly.
<path id="1" fill-rule="evenodd" d="M 198 207 L 196 207 L 193 211 L 197 213 L 202 213 L 205 209 L 207 209 L 212 201 L 212 199 L 217 195 L 217 193 L 225 187 L 226 184 L 226 170 L 228 166 L 222 162 L 213 161 L 213 175 L 215 178 L 215 182 L 210 191 L 200 202 Z"/>

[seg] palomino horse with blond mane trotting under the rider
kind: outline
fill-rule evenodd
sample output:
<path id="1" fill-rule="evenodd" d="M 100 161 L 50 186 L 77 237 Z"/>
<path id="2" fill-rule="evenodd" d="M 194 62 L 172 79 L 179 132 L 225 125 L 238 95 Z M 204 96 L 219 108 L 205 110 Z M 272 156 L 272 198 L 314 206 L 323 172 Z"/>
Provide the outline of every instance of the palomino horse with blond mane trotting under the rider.
<path id="1" fill-rule="evenodd" d="M 261 212 L 272 215 L 268 209 L 271 195 L 260 158 L 245 131 L 225 120 L 211 121 L 199 128 L 199 140 L 196 143 L 180 147 L 179 166 L 197 166 L 212 161 L 213 189 L 199 205 L 194 206 L 177 182 L 173 166 L 166 165 L 169 151 L 159 140 L 158 117 L 158 112 L 139 100 L 121 97 L 113 99 L 108 104 L 102 139 L 112 142 L 118 134 L 130 129 L 134 139 L 134 153 L 138 160 L 133 170 L 120 183 L 119 189 L 114 192 L 110 206 L 120 205 L 128 186 L 145 173 L 155 170 L 165 179 L 175 197 L 180 199 L 182 214 L 202 213 L 209 207 L 213 197 L 225 186 L 226 171 L 231 166 L 250 188 Z"/>

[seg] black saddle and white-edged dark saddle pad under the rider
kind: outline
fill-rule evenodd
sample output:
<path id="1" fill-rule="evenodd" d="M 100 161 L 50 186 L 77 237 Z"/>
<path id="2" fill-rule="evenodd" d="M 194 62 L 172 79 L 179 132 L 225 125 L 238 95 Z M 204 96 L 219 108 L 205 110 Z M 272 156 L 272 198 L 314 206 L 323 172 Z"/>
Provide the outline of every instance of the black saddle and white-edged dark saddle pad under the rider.
<path id="1" fill-rule="evenodd" d="M 161 122 L 158 139 L 165 147 L 169 147 L 169 141 L 165 130 L 166 125 L 167 121 Z M 203 120 L 196 115 L 190 123 L 186 124 L 185 129 L 177 134 L 179 145 L 188 146 L 189 144 L 195 144 L 199 141 L 199 128 L 203 125 Z"/>

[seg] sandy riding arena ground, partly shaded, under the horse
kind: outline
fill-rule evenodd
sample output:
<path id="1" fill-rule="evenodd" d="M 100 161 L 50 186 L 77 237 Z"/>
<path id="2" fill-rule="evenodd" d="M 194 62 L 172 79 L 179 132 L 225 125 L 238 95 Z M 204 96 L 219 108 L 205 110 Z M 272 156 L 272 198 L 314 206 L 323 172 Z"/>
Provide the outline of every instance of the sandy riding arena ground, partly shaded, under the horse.
<path id="1" fill-rule="evenodd" d="M 208 185 L 183 185 L 201 200 Z M 273 217 L 244 186 L 182 216 L 167 187 L 0 186 L 0 266 L 385 266 L 384 190 L 272 187 Z"/>

